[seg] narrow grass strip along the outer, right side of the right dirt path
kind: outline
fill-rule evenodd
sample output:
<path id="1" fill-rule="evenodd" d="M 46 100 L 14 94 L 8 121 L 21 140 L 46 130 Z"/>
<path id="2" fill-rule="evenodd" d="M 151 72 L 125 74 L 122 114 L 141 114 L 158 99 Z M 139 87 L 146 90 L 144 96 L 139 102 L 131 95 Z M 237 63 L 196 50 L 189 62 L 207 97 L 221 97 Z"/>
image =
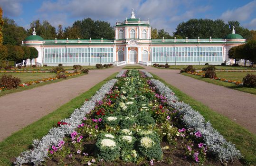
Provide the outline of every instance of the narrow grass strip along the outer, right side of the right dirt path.
<path id="1" fill-rule="evenodd" d="M 222 73 L 222 72 L 219 72 L 219 73 Z M 221 76 L 218 75 L 219 73 L 217 73 L 217 76 L 221 77 Z M 231 72 L 228 72 L 228 73 L 231 73 Z M 216 85 L 225 86 L 227 88 L 235 89 L 235 90 L 238 90 L 238 91 L 247 92 L 247 93 L 251 93 L 251 94 L 256 94 L 256 88 L 243 87 L 242 85 L 236 85 L 234 83 L 227 83 L 227 82 L 223 82 L 223 81 L 220 81 L 220 80 L 214 80 L 214 79 L 205 78 L 205 77 L 192 75 L 192 74 L 187 74 L 187 73 L 182 73 L 182 75 L 186 75 L 186 76 L 189 76 L 189 77 L 201 80 L 201 81 L 205 81 L 207 83 L 213 83 L 213 84 L 216 84 Z"/>

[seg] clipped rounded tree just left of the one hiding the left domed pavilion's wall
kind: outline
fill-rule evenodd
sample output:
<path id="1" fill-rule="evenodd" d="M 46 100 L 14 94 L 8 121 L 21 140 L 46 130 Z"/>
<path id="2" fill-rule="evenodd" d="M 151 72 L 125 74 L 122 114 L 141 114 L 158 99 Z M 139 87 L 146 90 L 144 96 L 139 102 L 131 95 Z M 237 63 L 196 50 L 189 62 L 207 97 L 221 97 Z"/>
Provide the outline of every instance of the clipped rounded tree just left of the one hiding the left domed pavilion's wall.
<path id="1" fill-rule="evenodd" d="M 24 57 L 24 51 L 21 48 L 21 46 L 12 46 L 12 45 L 6 45 L 8 48 L 8 58 L 9 61 L 15 61 L 20 62 L 23 60 Z"/>

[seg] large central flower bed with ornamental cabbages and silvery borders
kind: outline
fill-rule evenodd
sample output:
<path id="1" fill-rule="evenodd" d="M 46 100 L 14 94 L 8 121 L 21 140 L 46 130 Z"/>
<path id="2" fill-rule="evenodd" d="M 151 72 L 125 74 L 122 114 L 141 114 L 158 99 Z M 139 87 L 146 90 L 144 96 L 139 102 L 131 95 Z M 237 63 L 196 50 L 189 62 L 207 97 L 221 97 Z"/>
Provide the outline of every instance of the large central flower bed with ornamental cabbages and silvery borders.
<path id="1" fill-rule="evenodd" d="M 106 83 L 69 119 L 34 141 L 35 148 L 22 153 L 15 164 L 241 165 L 234 145 L 160 81 L 144 77 L 149 76 L 144 71 L 118 75 L 118 81 Z"/>

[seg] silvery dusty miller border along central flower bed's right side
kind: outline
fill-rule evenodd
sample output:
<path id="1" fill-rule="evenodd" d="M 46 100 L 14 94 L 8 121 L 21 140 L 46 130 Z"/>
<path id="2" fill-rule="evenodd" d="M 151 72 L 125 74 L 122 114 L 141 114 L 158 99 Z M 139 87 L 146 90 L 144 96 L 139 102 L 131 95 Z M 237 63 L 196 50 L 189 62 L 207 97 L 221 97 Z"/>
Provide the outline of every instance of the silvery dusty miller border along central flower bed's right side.
<path id="1" fill-rule="evenodd" d="M 182 121 L 185 126 L 201 132 L 209 150 L 221 162 L 233 161 L 241 157 L 241 153 L 235 145 L 228 142 L 209 122 L 206 122 L 198 111 L 193 110 L 189 104 L 178 101 L 171 89 L 159 80 L 151 79 L 151 82 L 162 95 L 166 96 L 168 104 L 183 116 Z"/>

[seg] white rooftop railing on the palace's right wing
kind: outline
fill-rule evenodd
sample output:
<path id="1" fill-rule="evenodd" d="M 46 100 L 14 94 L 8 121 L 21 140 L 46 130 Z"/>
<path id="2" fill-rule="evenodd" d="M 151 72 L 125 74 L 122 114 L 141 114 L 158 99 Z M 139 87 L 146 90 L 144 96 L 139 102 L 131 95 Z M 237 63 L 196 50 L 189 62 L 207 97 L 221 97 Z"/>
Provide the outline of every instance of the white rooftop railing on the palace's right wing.
<path id="1" fill-rule="evenodd" d="M 214 39 L 152 39 L 152 43 L 204 43 L 204 42 L 226 42 L 223 38 Z"/>

